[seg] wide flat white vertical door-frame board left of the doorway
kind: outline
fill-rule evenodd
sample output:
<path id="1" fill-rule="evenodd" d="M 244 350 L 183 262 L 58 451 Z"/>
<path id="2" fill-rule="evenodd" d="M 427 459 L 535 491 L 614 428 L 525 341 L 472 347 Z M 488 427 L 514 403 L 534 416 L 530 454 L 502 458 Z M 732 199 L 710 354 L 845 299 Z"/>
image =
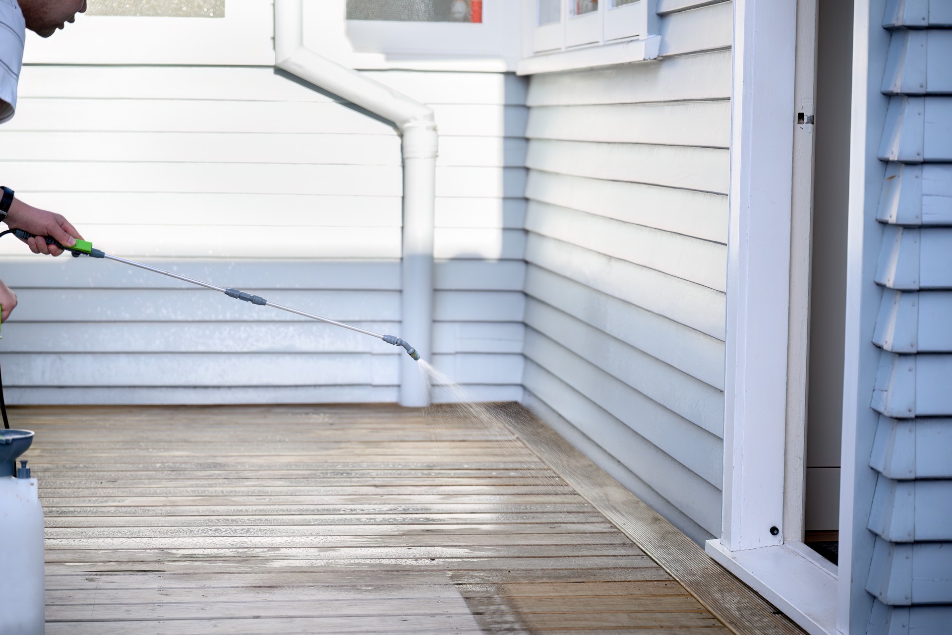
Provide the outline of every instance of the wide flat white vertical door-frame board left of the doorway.
<path id="1" fill-rule="evenodd" d="M 796 0 L 734 2 L 721 539 L 731 551 L 783 542 L 796 25 Z"/>

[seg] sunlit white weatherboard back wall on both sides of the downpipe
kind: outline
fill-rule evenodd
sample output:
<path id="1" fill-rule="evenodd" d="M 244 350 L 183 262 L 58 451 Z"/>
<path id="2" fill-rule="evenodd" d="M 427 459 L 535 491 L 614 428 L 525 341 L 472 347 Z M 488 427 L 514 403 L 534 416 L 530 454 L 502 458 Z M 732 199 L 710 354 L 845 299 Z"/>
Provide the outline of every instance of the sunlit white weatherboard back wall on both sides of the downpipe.
<path id="1" fill-rule="evenodd" d="M 518 399 L 526 90 L 499 73 L 368 73 L 436 111 L 434 359 Z M 377 332 L 400 332 L 400 138 L 271 68 L 23 70 L 4 183 L 97 248 Z M 398 355 L 117 263 L 0 241 L 19 307 L 11 403 L 392 402 Z M 459 398 L 441 389 L 437 399 Z"/>

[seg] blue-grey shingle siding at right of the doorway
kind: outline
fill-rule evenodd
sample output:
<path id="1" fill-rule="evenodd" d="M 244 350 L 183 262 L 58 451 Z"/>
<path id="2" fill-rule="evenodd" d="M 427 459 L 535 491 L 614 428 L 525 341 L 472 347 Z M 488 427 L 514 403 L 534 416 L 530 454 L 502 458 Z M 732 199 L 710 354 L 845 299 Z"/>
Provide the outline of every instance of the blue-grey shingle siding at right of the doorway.
<path id="1" fill-rule="evenodd" d="M 890 0 L 870 635 L 952 632 L 952 2 Z"/>

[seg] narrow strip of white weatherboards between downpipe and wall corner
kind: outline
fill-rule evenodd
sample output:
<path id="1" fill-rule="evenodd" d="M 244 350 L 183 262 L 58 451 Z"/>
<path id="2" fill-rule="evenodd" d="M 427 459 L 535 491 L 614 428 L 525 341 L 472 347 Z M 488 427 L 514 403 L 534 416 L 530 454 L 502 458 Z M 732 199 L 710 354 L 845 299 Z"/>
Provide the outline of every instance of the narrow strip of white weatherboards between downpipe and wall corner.
<path id="1" fill-rule="evenodd" d="M 451 77 L 465 81 L 466 73 Z M 526 81 L 496 77 L 499 85 L 488 85 L 482 73 L 474 73 L 505 107 L 480 104 L 486 95 L 462 86 L 446 89 L 465 90 L 472 105 L 434 105 L 440 157 L 433 365 L 460 385 L 434 387 L 435 401 L 522 398 Z M 407 90 L 419 98 L 426 91 Z"/>

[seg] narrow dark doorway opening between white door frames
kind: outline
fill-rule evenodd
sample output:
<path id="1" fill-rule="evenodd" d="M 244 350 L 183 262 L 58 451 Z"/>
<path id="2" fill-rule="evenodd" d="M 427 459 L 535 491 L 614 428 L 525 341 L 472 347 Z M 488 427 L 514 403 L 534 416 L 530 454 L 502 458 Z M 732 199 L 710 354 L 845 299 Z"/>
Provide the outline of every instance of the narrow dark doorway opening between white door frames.
<path id="1" fill-rule="evenodd" d="M 838 562 L 853 3 L 817 3 L 804 542 Z"/>

